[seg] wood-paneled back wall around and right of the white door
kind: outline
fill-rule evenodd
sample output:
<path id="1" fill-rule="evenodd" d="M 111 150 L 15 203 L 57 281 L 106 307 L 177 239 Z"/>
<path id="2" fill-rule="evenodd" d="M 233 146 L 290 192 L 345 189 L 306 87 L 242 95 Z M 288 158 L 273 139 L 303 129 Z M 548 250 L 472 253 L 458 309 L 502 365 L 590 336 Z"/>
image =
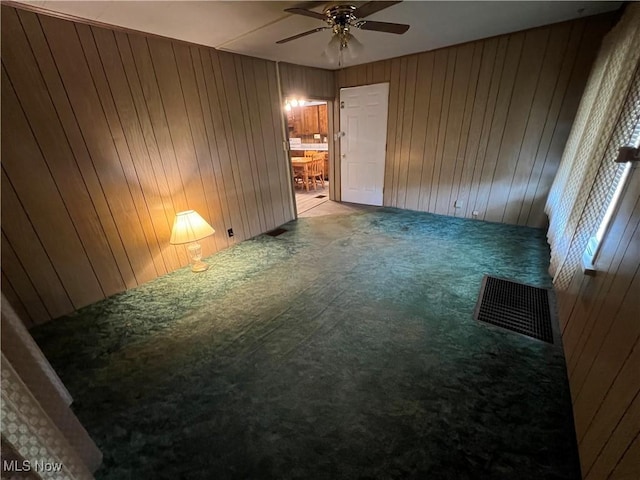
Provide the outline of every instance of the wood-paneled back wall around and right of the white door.
<path id="1" fill-rule="evenodd" d="M 340 70 L 340 88 L 390 83 L 384 205 L 543 226 L 612 22 L 590 17 Z"/>

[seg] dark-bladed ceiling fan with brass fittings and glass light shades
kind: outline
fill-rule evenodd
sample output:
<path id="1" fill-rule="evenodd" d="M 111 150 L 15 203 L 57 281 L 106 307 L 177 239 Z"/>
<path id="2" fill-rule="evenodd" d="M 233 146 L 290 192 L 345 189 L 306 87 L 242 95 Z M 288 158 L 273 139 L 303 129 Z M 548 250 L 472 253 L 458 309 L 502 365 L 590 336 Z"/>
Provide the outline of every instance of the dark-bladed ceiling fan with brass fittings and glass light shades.
<path id="1" fill-rule="evenodd" d="M 342 52 L 343 50 L 347 49 L 350 43 L 352 46 L 355 46 L 356 49 L 362 48 L 362 44 L 360 44 L 360 42 L 358 42 L 351 33 L 352 28 L 359 28 L 360 30 L 372 30 L 376 32 L 395 33 L 398 35 L 402 35 L 407 30 L 409 30 L 409 25 L 401 23 L 365 20 L 365 18 L 369 15 L 373 15 L 380 10 L 391 7 L 396 3 L 400 3 L 399 1 L 366 2 L 359 7 L 351 4 L 332 3 L 330 4 L 330 6 L 325 8 L 322 13 L 314 12 L 313 10 L 304 8 L 304 6 L 312 7 L 314 5 L 323 3 L 325 2 L 306 2 L 305 4 L 303 4 L 303 6 L 285 8 L 285 12 L 322 20 L 327 25 L 324 27 L 314 28 L 313 30 L 309 30 L 307 32 L 298 33 L 297 35 L 293 35 L 291 37 L 283 38 L 282 40 L 278 40 L 276 43 L 287 43 L 292 40 L 297 40 L 298 38 L 306 37 L 307 35 L 311 35 L 312 33 L 321 32 L 323 30 L 332 30 L 333 37 L 331 38 L 331 42 L 329 42 L 327 50 L 325 50 L 325 54 L 329 54 L 329 51 L 335 49 L 335 46 L 337 46 L 337 50 L 339 52 Z"/>

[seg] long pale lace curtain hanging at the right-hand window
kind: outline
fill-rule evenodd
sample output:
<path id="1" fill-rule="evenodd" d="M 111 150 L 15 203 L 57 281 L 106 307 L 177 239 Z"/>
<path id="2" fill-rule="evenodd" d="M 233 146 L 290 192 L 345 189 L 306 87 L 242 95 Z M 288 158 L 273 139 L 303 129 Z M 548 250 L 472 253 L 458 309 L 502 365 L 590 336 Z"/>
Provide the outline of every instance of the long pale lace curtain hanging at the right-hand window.
<path id="1" fill-rule="evenodd" d="M 640 4 L 631 3 L 603 40 L 547 197 L 550 272 L 560 290 L 602 220 L 618 148 L 630 141 L 640 113 L 639 46 Z"/>

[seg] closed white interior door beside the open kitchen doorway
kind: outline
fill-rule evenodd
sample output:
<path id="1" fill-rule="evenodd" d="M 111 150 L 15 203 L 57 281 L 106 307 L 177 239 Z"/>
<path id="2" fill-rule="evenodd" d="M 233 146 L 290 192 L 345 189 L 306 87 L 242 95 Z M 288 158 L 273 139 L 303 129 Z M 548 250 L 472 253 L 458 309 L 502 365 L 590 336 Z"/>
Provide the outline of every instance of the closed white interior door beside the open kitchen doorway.
<path id="1" fill-rule="evenodd" d="M 343 202 L 382 205 L 389 84 L 340 89 Z"/>

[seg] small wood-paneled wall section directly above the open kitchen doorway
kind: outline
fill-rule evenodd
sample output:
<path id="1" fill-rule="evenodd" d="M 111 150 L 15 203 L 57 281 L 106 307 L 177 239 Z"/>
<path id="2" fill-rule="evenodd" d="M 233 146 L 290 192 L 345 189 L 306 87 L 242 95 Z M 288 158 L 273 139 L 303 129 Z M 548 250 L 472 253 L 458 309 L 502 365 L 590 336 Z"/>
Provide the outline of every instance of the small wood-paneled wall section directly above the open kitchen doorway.
<path id="1" fill-rule="evenodd" d="M 322 68 L 278 63 L 283 96 L 333 100 L 336 95 L 335 73 Z"/>

